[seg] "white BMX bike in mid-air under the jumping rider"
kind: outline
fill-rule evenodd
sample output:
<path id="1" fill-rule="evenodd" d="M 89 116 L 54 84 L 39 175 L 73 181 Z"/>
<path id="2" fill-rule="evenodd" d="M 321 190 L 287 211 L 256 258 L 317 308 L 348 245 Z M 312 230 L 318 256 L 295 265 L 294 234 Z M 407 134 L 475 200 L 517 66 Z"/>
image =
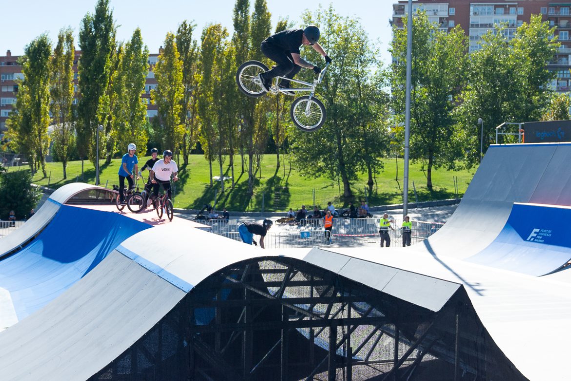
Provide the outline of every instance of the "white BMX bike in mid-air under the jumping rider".
<path id="1" fill-rule="evenodd" d="M 297 128 L 301 129 L 301 131 L 316 131 L 325 123 L 325 119 L 327 117 L 325 106 L 323 106 L 323 103 L 319 99 L 315 98 L 313 94 L 315 94 L 317 84 L 321 83 L 328 66 L 329 64 L 325 64 L 325 68 L 319 73 L 319 76 L 317 76 L 317 79 L 315 79 L 313 83 L 297 79 L 289 79 L 284 76 L 277 76 L 274 78 L 270 86 L 271 94 L 279 94 L 281 92 L 282 94 L 291 95 L 288 94 L 288 92 L 309 92 L 309 95 L 302 95 L 296 98 L 292 102 L 291 109 L 289 110 L 289 115 L 291 116 L 293 124 L 295 124 Z M 270 69 L 262 62 L 254 60 L 244 62 L 238 68 L 238 72 L 236 72 L 236 83 L 238 83 L 240 91 L 251 98 L 259 98 L 266 94 L 266 91 L 264 91 L 264 88 L 262 87 L 262 83 L 260 83 L 260 80 L 258 79 L 258 74 L 268 70 Z M 282 89 L 278 86 L 280 79 L 285 79 L 301 86 Z"/>

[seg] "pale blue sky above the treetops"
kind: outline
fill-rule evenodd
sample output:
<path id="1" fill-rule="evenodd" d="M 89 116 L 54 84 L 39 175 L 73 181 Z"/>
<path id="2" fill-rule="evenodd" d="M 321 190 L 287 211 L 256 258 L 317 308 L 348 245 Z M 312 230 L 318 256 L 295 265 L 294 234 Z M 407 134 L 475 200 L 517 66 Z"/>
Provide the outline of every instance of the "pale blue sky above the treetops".
<path id="1" fill-rule="evenodd" d="M 76 35 L 81 19 L 87 12 L 93 13 L 95 0 L 19 0 L 8 10 L 2 7 L 0 23 L 0 55 L 11 50 L 12 55 L 22 55 L 24 47 L 38 35 L 47 32 L 50 38 L 57 40 L 62 27 L 71 26 Z M 119 25 L 118 39 L 128 40 L 136 27 L 141 29 L 144 43 L 150 52 L 158 52 L 168 31 L 175 32 L 184 19 L 194 20 L 200 38 L 200 31 L 209 23 L 221 23 L 232 34 L 232 10 L 234 0 L 111 0 L 113 16 Z M 317 9 L 319 5 L 333 6 L 343 16 L 357 17 L 372 40 L 380 44 L 381 59 L 390 62 L 387 52 L 391 40 L 389 19 L 392 15 L 390 0 L 267 0 L 268 10 L 272 14 L 272 27 L 279 17 L 288 18 L 296 25 L 305 9 Z M 253 7 L 254 0 L 250 0 Z"/>

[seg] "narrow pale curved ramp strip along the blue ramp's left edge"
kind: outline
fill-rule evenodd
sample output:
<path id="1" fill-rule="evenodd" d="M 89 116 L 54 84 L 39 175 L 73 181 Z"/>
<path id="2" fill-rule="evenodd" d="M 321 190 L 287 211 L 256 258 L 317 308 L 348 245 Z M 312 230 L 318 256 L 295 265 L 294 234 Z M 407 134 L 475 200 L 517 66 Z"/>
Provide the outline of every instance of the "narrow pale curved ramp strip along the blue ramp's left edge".
<path id="1" fill-rule="evenodd" d="M 85 183 L 71 183 L 56 189 L 54 193 L 50 194 L 50 197 L 47 198 L 46 202 L 44 202 L 34 216 L 30 217 L 21 228 L 14 230 L 14 232 L 0 240 L 0 258 L 17 250 L 20 246 L 37 236 L 37 234 L 49 224 L 51 219 L 54 218 L 60 205 L 65 204 L 71 197 L 75 196 L 75 194 L 89 189 L 106 188 Z M 74 223 L 78 221 L 70 222 Z"/>

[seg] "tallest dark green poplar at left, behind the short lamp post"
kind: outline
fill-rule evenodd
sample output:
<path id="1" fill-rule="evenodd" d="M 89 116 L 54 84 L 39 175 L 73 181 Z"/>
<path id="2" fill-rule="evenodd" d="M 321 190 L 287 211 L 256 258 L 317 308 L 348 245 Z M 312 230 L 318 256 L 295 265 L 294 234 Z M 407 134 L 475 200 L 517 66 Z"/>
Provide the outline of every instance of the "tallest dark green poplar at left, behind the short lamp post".
<path id="1" fill-rule="evenodd" d="M 109 133 L 111 56 L 115 51 L 116 27 L 109 0 L 98 0 L 95 13 L 87 13 L 79 29 L 79 90 L 77 148 L 82 160 L 89 156 L 95 163 L 95 128 L 104 125 Z M 100 136 L 106 147 L 106 136 Z"/>

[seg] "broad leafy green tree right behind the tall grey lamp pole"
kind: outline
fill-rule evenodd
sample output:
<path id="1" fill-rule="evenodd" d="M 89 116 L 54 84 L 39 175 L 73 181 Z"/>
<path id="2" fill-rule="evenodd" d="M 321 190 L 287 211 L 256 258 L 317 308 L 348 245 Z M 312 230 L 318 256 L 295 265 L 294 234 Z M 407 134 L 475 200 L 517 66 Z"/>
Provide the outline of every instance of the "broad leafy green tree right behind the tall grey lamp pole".
<path id="1" fill-rule="evenodd" d="M 403 22 L 406 22 L 404 20 Z M 406 24 L 405 24 L 406 25 Z M 452 137 L 456 134 L 453 98 L 464 87 L 467 43 L 460 26 L 446 33 L 424 12 L 413 18 L 411 75 L 412 160 L 427 160 L 427 188 L 432 189 L 432 168 L 455 164 Z M 404 119 L 407 30 L 393 29 L 391 52 L 393 108 Z"/>

